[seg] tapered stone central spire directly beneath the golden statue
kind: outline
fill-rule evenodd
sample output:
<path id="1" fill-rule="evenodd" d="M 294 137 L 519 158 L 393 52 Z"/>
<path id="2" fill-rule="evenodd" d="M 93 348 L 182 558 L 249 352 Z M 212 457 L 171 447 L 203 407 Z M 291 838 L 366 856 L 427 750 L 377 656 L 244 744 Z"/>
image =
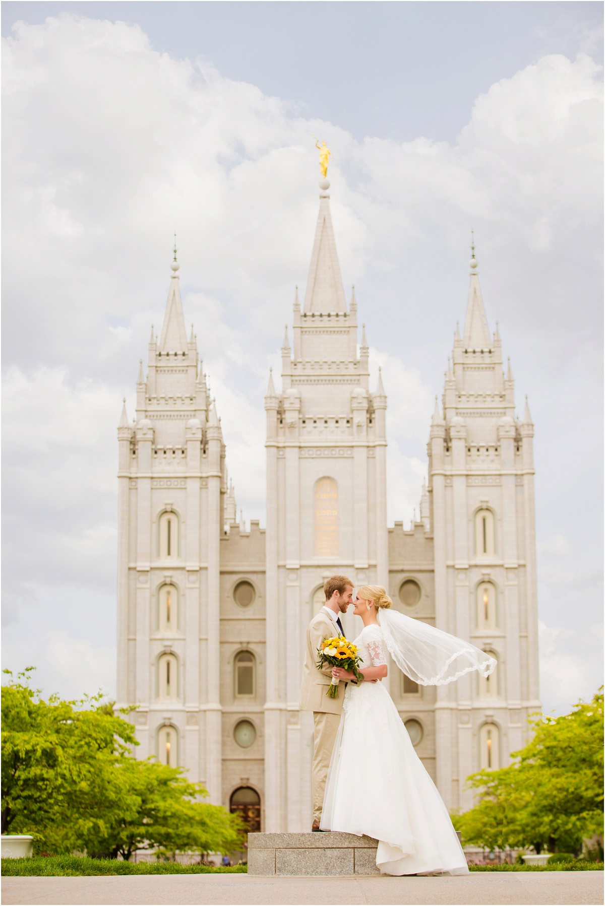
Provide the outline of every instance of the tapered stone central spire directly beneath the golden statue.
<path id="1" fill-rule="evenodd" d="M 308 269 L 305 314 L 346 313 L 345 291 L 343 289 L 337 244 L 334 238 L 330 201 L 327 194 L 329 181 L 319 183 L 319 217 L 315 231 L 315 242 Z"/>

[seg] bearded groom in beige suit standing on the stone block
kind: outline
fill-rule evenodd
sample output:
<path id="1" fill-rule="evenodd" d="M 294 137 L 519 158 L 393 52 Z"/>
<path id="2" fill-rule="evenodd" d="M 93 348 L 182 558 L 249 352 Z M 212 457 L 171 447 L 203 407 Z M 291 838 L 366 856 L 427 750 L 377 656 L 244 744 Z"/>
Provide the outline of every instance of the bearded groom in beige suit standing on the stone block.
<path id="1" fill-rule="evenodd" d="M 317 649 L 324 639 L 344 635 L 340 614 L 352 602 L 353 583 L 346 575 L 333 575 L 324 584 L 326 603 L 313 617 L 307 629 L 305 665 L 300 686 L 300 709 L 313 711 L 314 752 L 313 752 L 313 827 L 319 830 L 321 808 L 324 804 L 327 768 L 330 765 L 332 749 L 337 737 L 340 712 L 345 699 L 346 683 L 338 684 L 337 699 L 330 699 L 327 687 L 332 681 L 332 668 L 325 664 L 317 670 Z"/>

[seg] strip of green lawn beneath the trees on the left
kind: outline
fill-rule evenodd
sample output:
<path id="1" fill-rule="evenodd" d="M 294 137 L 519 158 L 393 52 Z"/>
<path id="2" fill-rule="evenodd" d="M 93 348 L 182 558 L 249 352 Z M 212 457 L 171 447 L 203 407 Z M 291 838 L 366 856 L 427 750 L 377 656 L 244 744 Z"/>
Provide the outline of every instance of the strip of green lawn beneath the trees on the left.
<path id="1" fill-rule="evenodd" d="M 181 865 L 174 862 L 122 862 L 117 859 L 91 859 L 89 856 L 49 855 L 23 859 L 3 859 L 2 874 L 15 876 L 95 874 L 245 874 L 246 865 L 214 868 L 209 865 Z"/>

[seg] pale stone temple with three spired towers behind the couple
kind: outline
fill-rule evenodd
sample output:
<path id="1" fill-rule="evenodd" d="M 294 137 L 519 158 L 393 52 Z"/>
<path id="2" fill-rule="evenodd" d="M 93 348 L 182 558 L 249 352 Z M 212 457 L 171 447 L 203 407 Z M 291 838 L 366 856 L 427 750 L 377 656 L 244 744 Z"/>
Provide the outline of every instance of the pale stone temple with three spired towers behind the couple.
<path id="1" fill-rule="evenodd" d="M 357 351 L 325 181 L 282 389 L 269 378 L 267 529 L 238 525 L 220 419 L 179 265 L 160 341 L 151 331 L 135 424 L 118 429 L 118 702 L 140 757 L 185 766 L 217 804 L 239 802 L 259 829 L 311 823 L 312 718 L 298 710 L 304 633 L 327 576 L 388 585 L 402 612 L 494 651 L 495 677 L 389 689 L 446 805 L 466 808 L 466 776 L 505 765 L 538 700 L 533 426 L 514 419 L 510 366 L 487 330 L 476 260 L 464 336 L 456 333 L 428 444 L 420 521 L 386 525 L 385 409 Z M 347 615 L 347 634 L 357 631 Z M 238 798 L 239 797 L 239 798 Z M 243 807 L 243 806 L 242 806 Z M 256 809 L 256 812 L 254 811 Z"/>

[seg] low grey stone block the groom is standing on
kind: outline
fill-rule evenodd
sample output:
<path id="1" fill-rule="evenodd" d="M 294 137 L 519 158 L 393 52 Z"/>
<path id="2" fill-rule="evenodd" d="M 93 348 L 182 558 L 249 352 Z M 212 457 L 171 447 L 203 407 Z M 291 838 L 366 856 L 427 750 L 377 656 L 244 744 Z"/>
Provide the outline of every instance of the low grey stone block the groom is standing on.
<path id="1" fill-rule="evenodd" d="M 340 834 L 248 834 L 248 873 L 380 874 L 376 868 L 378 841 Z"/>

